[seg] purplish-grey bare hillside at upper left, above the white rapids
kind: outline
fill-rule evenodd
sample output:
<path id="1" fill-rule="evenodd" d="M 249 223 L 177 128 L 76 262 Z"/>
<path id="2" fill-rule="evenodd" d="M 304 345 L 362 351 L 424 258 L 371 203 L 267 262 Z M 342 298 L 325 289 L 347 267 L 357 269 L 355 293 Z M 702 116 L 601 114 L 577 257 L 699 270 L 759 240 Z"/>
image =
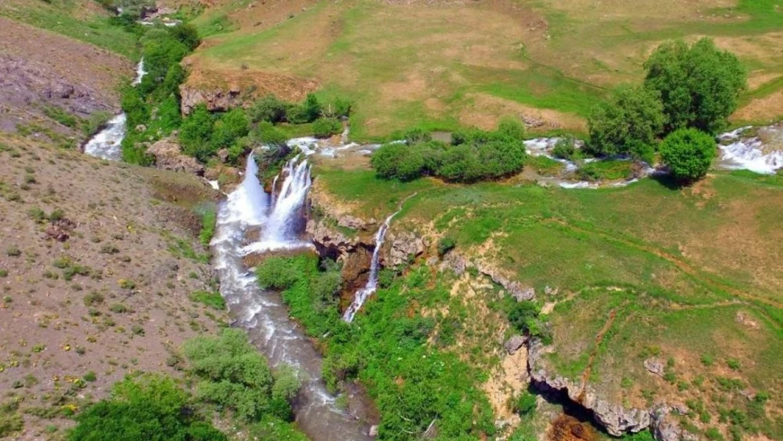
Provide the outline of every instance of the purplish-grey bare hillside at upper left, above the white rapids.
<path id="1" fill-rule="evenodd" d="M 87 118 L 119 110 L 117 85 L 133 63 L 113 52 L 61 34 L 0 17 L 0 130 L 45 125 L 78 135 L 77 123 L 52 119 L 58 112 Z M 49 115 L 49 117 L 47 117 Z"/>

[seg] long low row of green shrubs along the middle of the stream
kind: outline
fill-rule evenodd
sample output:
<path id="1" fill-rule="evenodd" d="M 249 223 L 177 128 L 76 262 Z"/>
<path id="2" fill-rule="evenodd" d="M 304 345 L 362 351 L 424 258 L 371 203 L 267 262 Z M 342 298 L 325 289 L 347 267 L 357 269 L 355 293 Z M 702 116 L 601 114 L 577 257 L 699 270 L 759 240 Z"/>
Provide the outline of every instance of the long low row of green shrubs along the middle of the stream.
<path id="1" fill-rule="evenodd" d="M 405 143 L 384 144 L 370 159 L 378 176 L 403 181 L 422 175 L 456 183 L 474 183 L 513 175 L 525 162 L 518 121 L 503 121 L 494 132 L 471 128 L 455 132 L 450 144 L 432 140 L 426 133 L 406 133 Z"/>

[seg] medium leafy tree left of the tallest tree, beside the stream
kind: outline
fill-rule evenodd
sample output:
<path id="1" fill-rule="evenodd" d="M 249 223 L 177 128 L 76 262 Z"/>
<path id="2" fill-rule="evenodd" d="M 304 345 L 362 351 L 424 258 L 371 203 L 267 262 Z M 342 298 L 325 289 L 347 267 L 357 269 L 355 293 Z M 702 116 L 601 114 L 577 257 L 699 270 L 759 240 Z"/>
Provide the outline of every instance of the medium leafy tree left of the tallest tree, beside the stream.
<path id="1" fill-rule="evenodd" d="M 642 157 L 650 151 L 665 121 L 658 92 L 620 85 L 606 101 L 593 107 L 587 118 L 590 149 L 603 155 Z"/>

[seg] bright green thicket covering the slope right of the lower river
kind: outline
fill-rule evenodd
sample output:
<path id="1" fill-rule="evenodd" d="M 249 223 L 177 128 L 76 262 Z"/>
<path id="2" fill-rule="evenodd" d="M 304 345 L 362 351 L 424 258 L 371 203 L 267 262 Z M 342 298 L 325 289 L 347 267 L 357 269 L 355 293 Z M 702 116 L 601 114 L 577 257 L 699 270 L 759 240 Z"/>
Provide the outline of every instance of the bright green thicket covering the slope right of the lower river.
<path id="1" fill-rule="evenodd" d="M 379 439 L 419 439 L 433 420 L 438 439 L 493 434 L 492 410 L 476 385 L 478 371 L 456 354 L 428 344 L 435 318 L 418 311 L 434 307 L 435 299 L 449 298 L 449 290 L 429 280 L 426 267 L 407 273 L 405 287 L 401 278 L 384 272 L 384 288 L 348 326 L 336 301 L 317 302 L 316 293 L 328 294 L 334 284 L 320 282 L 327 286 L 321 289 L 314 280 L 330 277 L 337 268 L 319 266 L 318 258 L 309 254 L 285 259 L 285 267 L 298 276 L 283 291 L 283 299 L 307 333 L 321 339 L 324 380 L 333 389 L 343 381 L 362 381 L 381 414 Z"/>

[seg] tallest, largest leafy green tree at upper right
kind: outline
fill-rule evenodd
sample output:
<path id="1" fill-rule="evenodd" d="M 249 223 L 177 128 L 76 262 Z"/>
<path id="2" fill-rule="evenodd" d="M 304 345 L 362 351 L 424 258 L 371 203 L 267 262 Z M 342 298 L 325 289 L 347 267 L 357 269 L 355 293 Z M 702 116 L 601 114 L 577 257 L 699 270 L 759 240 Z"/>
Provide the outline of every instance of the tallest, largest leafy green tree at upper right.
<path id="1" fill-rule="evenodd" d="M 717 49 L 710 38 L 693 45 L 660 45 L 644 63 L 644 85 L 660 93 L 669 121 L 666 131 L 694 127 L 713 133 L 726 124 L 745 89 L 745 67 L 737 56 Z"/>

